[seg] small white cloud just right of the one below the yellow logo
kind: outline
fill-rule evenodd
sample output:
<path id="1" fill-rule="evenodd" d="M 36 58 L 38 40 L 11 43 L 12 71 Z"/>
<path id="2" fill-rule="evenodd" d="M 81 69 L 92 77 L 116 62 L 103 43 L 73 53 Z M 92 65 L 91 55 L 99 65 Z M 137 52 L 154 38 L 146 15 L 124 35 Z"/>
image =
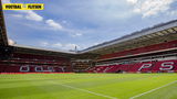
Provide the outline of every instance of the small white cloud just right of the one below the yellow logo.
<path id="1" fill-rule="evenodd" d="M 45 23 L 54 30 L 62 30 L 63 29 L 63 26 L 60 23 L 56 23 L 53 20 L 46 20 Z"/>

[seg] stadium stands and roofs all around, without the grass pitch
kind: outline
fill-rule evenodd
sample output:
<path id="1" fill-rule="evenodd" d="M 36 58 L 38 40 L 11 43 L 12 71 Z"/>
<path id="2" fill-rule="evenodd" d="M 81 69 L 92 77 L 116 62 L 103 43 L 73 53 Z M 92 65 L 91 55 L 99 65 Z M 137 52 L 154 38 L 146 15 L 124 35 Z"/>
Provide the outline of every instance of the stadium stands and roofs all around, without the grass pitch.
<path id="1" fill-rule="evenodd" d="M 177 20 L 79 52 L 8 43 L 0 11 L 0 73 L 175 73 Z"/>

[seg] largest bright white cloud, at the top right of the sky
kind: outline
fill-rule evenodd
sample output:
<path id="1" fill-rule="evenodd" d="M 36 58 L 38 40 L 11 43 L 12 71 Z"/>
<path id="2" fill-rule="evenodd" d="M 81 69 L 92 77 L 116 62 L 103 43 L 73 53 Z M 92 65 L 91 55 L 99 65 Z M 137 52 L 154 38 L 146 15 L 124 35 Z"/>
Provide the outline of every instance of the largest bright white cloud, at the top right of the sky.
<path id="1" fill-rule="evenodd" d="M 140 13 L 143 18 L 147 18 L 169 10 L 169 6 L 175 0 L 142 0 L 134 6 L 133 11 L 135 13 Z"/>

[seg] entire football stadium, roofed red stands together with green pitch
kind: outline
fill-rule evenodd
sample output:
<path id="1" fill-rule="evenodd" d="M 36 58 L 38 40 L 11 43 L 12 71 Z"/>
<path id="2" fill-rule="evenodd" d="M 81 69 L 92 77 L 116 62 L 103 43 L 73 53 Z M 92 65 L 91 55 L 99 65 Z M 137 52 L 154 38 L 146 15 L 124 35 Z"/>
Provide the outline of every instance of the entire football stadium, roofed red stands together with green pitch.
<path id="1" fill-rule="evenodd" d="M 0 99 L 177 99 L 177 20 L 67 52 L 10 44 L 0 10 Z"/>

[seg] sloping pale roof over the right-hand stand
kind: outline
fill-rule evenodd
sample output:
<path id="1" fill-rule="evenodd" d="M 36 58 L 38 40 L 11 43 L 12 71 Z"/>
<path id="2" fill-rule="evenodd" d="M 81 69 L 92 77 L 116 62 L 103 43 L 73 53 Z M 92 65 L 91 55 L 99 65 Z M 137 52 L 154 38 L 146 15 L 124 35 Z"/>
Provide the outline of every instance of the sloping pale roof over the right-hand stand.
<path id="1" fill-rule="evenodd" d="M 142 31 L 134 32 L 129 35 L 125 35 L 125 36 L 122 36 L 119 38 L 116 38 L 110 42 L 104 42 L 102 44 L 83 50 L 81 51 L 81 53 L 96 51 L 96 50 L 108 47 L 115 44 L 122 44 L 127 41 L 131 42 L 132 40 L 140 41 L 140 40 L 148 40 L 148 38 L 157 37 L 157 36 L 163 37 L 163 35 L 167 35 L 170 33 L 177 33 L 177 20 L 174 20 L 167 23 L 157 24 L 153 28 L 144 29 Z"/>

